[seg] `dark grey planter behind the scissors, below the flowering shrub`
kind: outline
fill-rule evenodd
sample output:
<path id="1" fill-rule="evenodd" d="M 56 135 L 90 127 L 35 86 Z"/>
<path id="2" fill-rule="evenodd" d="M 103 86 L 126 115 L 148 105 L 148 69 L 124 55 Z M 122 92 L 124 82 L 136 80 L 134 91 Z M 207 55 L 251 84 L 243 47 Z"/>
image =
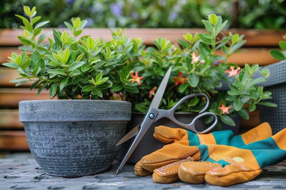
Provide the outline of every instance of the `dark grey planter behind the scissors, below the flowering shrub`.
<path id="1" fill-rule="evenodd" d="M 130 122 L 128 122 L 126 133 L 128 133 L 135 126 L 137 126 L 140 122 L 142 122 L 144 115 L 145 115 L 144 113 L 132 113 L 132 119 Z M 196 113 L 175 113 L 176 119 L 179 120 L 180 122 L 183 122 L 183 123 L 190 123 L 192 118 L 194 118 L 196 115 L 197 115 Z M 223 124 L 222 127 L 223 127 L 223 130 L 230 129 L 230 130 L 233 130 L 234 134 L 237 134 L 239 131 L 241 117 L 239 115 L 237 115 L 233 119 L 234 119 L 235 124 L 236 124 L 235 127 L 228 126 L 226 124 Z M 154 152 L 154 151 L 162 148 L 164 145 L 166 145 L 166 143 L 158 141 L 153 136 L 154 128 L 156 126 L 159 126 L 159 125 L 164 125 L 164 126 L 168 126 L 168 127 L 172 127 L 172 128 L 182 128 L 181 126 L 173 123 L 168 118 L 162 118 L 162 119 L 159 119 L 158 121 L 154 122 L 150 126 L 150 128 L 148 129 L 148 131 L 146 132 L 146 134 L 144 135 L 144 137 L 142 138 L 142 140 L 140 141 L 140 143 L 138 144 L 136 149 L 134 150 L 133 154 L 128 159 L 127 163 L 136 164 L 139 160 L 141 160 L 141 158 L 143 156 L 151 154 L 152 152 Z M 196 126 L 198 127 L 197 130 L 199 130 L 199 131 L 206 129 L 206 124 L 204 124 L 203 119 L 199 119 L 196 122 Z M 216 131 L 216 130 L 217 130 L 217 128 L 215 127 L 210 132 Z M 121 145 L 122 147 L 121 147 L 120 152 L 117 156 L 118 160 L 123 159 L 123 157 L 124 157 L 125 153 L 127 152 L 132 140 L 133 140 L 133 138 L 129 139 L 128 141 L 124 142 Z"/>

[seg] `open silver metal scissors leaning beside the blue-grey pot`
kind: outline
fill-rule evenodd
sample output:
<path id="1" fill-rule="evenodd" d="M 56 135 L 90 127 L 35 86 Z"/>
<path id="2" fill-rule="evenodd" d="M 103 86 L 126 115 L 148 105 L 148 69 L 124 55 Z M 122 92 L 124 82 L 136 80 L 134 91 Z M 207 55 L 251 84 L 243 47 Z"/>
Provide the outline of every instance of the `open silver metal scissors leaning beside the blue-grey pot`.
<path id="1" fill-rule="evenodd" d="M 153 122 L 156 122 L 157 120 L 163 118 L 163 117 L 167 117 L 168 119 L 172 120 L 172 122 L 176 123 L 179 126 L 182 126 L 188 130 L 191 130 L 193 132 L 196 132 L 198 134 L 203 134 L 206 133 L 210 130 L 212 130 L 212 128 L 214 128 L 218 122 L 217 116 L 214 113 L 211 112 L 204 112 L 207 108 L 208 105 L 210 103 L 210 99 L 208 98 L 208 96 L 204 93 L 194 93 L 194 94 L 190 94 L 190 95 L 186 95 L 185 97 L 183 97 L 182 99 L 180 99 L 180 101 L 178 101 L 178 103 L 176 103 L 176 105 L 174 107 L 172 107 L 169 110 L 164 110 L 164 109 L 158 109 L 160 102 L 162 100 L 162 97 L 164 95 L 167 83 L 169 81 L 170 75 L 171 75 L 171 70 L 172 70 L 172 66 L 170 66 L 170 68 L 168 69 L 168 71 L 166 72 L 166 74 L 164 75 L 156 94 L 154 95 L 154 98 L 150 104 L 150 107 L 148 108 L 144 119 L 142 120 L 142 122 L 137 125 L 135 128 L 133 128 L 128 134 L 126 134 L 119 142 L 118 144 L 116 144 L 116 146 L 122 144 L 123 142 L 127 141 L 128 139 L 132 138 L 133 136 L 136 135 L 136 137 L 134 138 L 132 144 L 130 145 L 128 151 L 126 152 L 123 160 L 121 161 L 117 171 L 116 171 L 116 175 L 119 173 L 119 171 L 122 169 L 122 167 L 126 164 L 127 160 L 130 158 L 131 154 L 133 153 L 133 151 L 135 150 L 135 148 L 137 147 L 137 145 L 139 144 L 139 142 L 141 141 L 141 139 L 143 138 L 143 136 L 145 135 L 145 133 L 147 132 L 147 130 L 149 129 L 149 127 L 152 125 Z M 202 109 L 198 115 L 192 120 L 192 122 L 190 122 L 189 124 L 185 124 L 182 123 L 180 121 L 178 121 L 175 117 L 174 117 L 174 112 L 175 110 L 187 99 L 194 97 L 194 96 L 204 96 L 206 98 L 206 105 L 204 107 L 204 109 Z M 204 113 L 203 113 L 204 112 Z M 215 117 L 215 120 L 213 122 L 213 124 L 211 126 L 209 126 L 207 129 L 203 130 L 203 131 L 197 131 L 195 128 L 195 122 L 196 120 L 198 120 L 200 117 L 204 117 L 206 115 L 212 115 L 213 117 Z"/>

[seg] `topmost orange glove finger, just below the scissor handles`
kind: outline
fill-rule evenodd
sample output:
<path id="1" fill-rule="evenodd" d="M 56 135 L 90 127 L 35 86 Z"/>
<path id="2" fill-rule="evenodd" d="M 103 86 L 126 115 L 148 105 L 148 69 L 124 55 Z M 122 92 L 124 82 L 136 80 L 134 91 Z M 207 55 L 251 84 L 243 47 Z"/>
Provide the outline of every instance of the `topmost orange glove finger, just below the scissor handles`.
<path id="1" fill-rule="evenodd" d="M 176 142 L 179 140 L 188 140 L 188 133 L 181 128 L 171 128 L 160 125 L 155 127 L 153 136 L 164 143 Z"/>

